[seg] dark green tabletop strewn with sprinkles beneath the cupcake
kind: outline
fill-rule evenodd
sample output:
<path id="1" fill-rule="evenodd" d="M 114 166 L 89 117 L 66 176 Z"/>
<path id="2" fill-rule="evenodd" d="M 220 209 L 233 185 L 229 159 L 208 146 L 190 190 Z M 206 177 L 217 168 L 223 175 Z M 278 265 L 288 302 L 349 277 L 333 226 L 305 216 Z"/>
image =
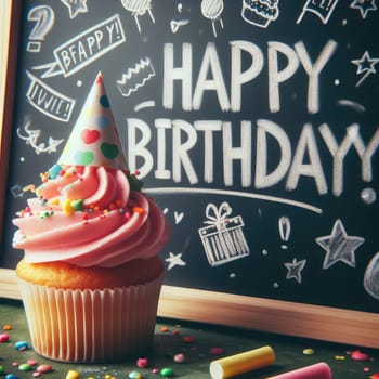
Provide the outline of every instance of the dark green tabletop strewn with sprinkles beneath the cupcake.
<path id="1" fill-rule="evenodd" d="M 3 330 L 4 325 L 11 325 L 12 329 Z M 148 356 L 148 367 L 146 368 L 136 367 L 135 361 L 106 365 L 64 364 L 45 360 L 32 349 L 17 351 L 15 343 L 29 339 L 24 309 L 19 301 L 0 299 L 0 334 L 8 332 L 10 335 L 9 342 L 0 343 L 0 365 L 4 369 L 4 378 L 6 378 L 6 374 L 14 374 L 18 378 L 34 378 L 32 370 L 21 371 L 15 363 L 23 364 L 29 360 L 36 360 L 38 365 L 49 364 L 53 368 L 53 371 L 41 376 L 44 379 L 65 379 L 69 370 L 80 373 L 81 379 L 125 379 L 131 371 L 135 370 L 141 373 L 143 378 L 158 379 L 161 376 L 154 374 L 153 368 L 161 369 L 164 367 L 172 368 L 177 379 L 209 379 L 209 364 L 219 357 L 212 354 L 212 348 L 221 348 L 224 351 L 221 356 L 227 356 L 263 345 L 271 345 L 275 351 L 275 364 L 245 374 L 239 378 L 266 378 L 318 362 L 329 364 L 332 378 L 367 379 L 375 378 L 376 375 L 379 378 L 379 350 L 207 324 L 158 318 L 154 352 Z M 186 341 L 188 336 L 193 339 L 192 342 Z M 314 353 L 312 355 L 304 354 L 306 349 L 312 349 Z M 355 350 L 367 353 L 370 360 L 354 361 L 351 357 L 351 352 Z M 173 360 L 175 354 L 184 354 L 185 362 L 175 363 Z"/>

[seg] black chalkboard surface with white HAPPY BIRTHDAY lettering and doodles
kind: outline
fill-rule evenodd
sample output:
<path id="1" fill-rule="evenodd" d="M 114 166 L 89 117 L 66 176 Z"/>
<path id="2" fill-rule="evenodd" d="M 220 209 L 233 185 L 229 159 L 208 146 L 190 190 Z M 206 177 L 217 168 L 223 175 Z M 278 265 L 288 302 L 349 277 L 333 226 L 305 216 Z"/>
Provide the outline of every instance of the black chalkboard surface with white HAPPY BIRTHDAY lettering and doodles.
<path id="1" fill-rule="evenodd" d="M 24 1 L 0 265 L 101 70 L 167 288 L 377 327 L 378 25 L 375 0 Z"/>

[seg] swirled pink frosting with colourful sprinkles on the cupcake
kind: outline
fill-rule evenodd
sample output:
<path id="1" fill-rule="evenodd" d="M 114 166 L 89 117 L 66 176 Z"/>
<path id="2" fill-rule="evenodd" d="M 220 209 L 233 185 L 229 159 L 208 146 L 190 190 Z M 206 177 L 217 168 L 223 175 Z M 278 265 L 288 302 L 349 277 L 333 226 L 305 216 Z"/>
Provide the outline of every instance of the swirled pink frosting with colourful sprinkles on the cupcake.
<path id="1" fill-rule="evenodd" d="M 56 170 L 56 168 L 55 168 Z M 18 213 L 13 247 L 31 263 L 64 261 L 112 267 L 158 254 L 170 236 L 166 218 L 122 170 L 60 167 Z"/>

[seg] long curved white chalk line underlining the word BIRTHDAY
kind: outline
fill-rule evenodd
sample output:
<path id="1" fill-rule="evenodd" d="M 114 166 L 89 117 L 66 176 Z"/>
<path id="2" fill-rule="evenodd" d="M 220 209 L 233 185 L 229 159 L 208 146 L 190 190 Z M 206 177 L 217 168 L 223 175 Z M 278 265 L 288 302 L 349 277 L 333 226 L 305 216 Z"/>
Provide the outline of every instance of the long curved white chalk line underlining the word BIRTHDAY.
<path id="1" fill-rule="evenodd" d="M 251 194 L 251 193 L 238 192 L 238 191 L 226 191 L 226 190 L 214 190 L 214 188 L 160 187 L 160 188 L 145 188 L 144 192 L 146 194 L 152 194 L 152 195 L 154 194 L 155 195 L 213 194 L 213 195 L 246 197 L 246 198 L 259 199 L 259 200 L 271 201 L 271 202 L 286 204 L 292 207 L 303 208 L 318 214 L 323 213 L 323 210 L 321 208 L 312 206 L 306 202 L 290 200 L 283 197 Z"/>

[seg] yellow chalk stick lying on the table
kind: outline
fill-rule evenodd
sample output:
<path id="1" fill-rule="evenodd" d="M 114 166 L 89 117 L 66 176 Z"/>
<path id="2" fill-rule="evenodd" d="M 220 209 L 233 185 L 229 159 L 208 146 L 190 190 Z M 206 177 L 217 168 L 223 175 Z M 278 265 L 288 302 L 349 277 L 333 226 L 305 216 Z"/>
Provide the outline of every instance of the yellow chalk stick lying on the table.
<path id="1" fill-rule="evenodd" d="M 269 366 L 274 362 L 275 353 L 273 349 L 271 347 L 262 347 L 212 361 L 209 366 L 209 373 L 212 379 L 225 379 Z"/>

